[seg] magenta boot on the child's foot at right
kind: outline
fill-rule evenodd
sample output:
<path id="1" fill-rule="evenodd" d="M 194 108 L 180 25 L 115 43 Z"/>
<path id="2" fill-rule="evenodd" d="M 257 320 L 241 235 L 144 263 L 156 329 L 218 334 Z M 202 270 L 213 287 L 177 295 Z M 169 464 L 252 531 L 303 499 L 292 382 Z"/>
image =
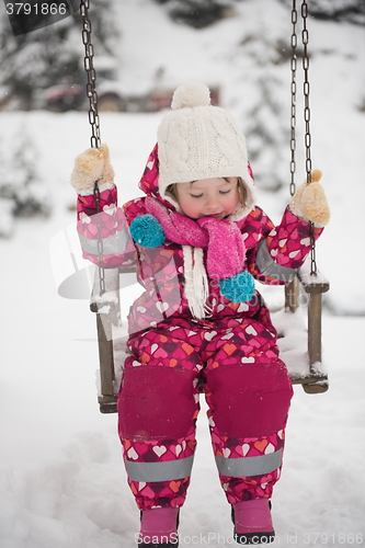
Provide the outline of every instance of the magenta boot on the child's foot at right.
<path id="1" fill-rule="evenodd" d="M 269 544 L 275 532 L 269 499 L 252 499 L 232 504 L 235 540 L 241 545 Z"/>

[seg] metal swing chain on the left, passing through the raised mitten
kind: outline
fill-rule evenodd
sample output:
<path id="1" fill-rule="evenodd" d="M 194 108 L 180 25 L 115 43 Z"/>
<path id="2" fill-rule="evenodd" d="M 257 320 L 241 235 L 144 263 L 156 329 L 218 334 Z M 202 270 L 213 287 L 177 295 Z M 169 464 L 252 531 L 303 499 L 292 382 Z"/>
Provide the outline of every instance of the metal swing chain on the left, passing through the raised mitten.
<path id="1" fill-rule="evenodd" d="M 94 50 L 91 42 L 91 22 L 89 19 L 89 8 L 90 0 L 81 0 L 80 3 L 80 14 L 82 21 L 82 43 L 84 45 L 84 59 L 83 66 L 88 75 L 87 83 L 87 96 L 89 99 L 89 123 L 91 125 L 91 148 L 100 148 L 101 137 L 100 137 L 100 119 L 98 113 L 98 93 L 95 90 L 96 72 L 93 66 Z M 96 204 L 96 215 L 98 215 L 98 255 L 99 255 L 99 282 L 100 282 L 100 295 L 105 293 L 105 270 L 103 265 L 103 254 L 104 247 L 101 236 L 101 224 L 100 224 L 100 189 L 99 181 L 94 182 L 94 199 Z"/>

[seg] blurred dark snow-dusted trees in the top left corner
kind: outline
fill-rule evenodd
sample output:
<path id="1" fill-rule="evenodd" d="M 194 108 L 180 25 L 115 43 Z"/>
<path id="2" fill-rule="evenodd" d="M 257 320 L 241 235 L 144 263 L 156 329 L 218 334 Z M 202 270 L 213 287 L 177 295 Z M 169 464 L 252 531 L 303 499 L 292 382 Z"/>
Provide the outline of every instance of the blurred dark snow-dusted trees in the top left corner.
<path id="1" fill-rule="evenodd" d="M 118 32 L 111 0 L 93 0 L 93 42 L 99 55 L 114 55 Z M 22 5 L 22 4 L 16 4 Z M 80 12 L 44 28 L 13 36 L 8 16 L 0 16 L 0 84 L 9 107 L 32 110 L 42 89 L 85 85 Z"/>

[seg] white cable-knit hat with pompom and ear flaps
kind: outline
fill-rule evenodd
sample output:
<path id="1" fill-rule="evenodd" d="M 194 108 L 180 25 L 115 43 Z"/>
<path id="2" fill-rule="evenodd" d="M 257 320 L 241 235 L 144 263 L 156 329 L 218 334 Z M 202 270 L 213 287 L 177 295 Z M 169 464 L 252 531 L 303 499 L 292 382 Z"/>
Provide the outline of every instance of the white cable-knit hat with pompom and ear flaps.
<path id="1" fill-rule="evenodd" d="M 246 217 L 255 204 L 254 185 L 246 139 L 236 119 L 224 109 L 210 105 L 209 89 L 195 81 L 179 85 L 171 107 L 158 129 L 160 195 L 179 209 L 179 204 L 166 195 L 168 185 L 240 176 L 247 187 L 246 206 L 239 204 L 229 218 Z"/>

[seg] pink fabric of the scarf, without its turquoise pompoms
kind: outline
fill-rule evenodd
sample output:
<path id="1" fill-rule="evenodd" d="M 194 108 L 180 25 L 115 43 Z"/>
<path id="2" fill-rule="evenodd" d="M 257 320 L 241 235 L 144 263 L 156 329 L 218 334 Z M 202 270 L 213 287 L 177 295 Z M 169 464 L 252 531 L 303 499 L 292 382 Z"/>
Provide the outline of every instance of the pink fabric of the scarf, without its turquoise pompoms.
<path id="1" fill-rule="evenodd" d="M 147 212 L 157 218 L 169 240 L 180 246 L 207 250 L 206 269 L 210 278 L 229 278 L 242 271 L 246 247 L 233 221 L 214 217 L 193 220 L 149 196 L 145 204 Z"/>

